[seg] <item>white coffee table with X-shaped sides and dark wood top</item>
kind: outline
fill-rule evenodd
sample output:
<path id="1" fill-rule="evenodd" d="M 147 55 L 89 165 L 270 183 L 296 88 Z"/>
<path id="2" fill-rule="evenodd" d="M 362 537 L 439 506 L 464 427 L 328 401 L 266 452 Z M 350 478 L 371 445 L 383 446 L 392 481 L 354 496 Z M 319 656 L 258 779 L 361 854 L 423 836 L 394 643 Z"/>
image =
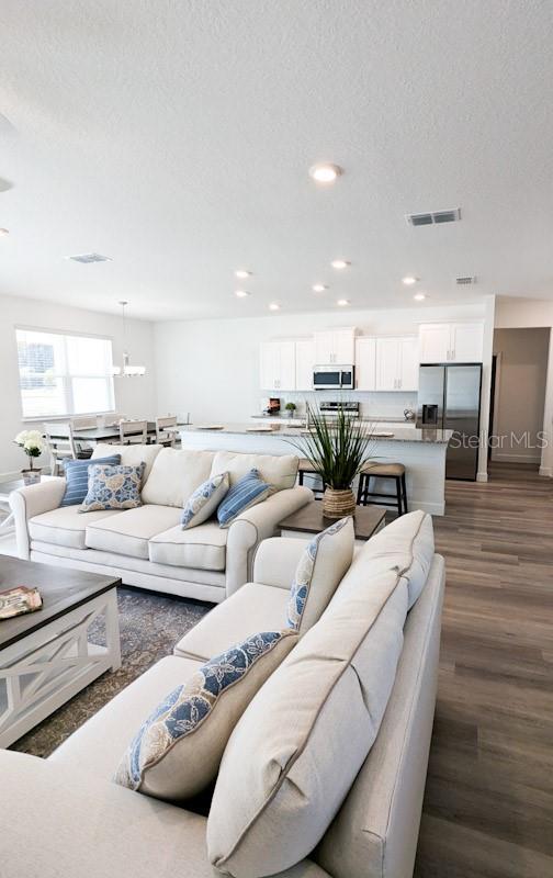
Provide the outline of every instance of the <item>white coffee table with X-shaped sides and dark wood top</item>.
<path id="1" fill-rule="evenodd" d="M 0 590 L 18 585 L 36 586 L 43 607 L 0 621 L 0 747 L 121 666 L 121 579 L 0 556 Z M 105 645 L 89 640 L 98 619 Z"/>

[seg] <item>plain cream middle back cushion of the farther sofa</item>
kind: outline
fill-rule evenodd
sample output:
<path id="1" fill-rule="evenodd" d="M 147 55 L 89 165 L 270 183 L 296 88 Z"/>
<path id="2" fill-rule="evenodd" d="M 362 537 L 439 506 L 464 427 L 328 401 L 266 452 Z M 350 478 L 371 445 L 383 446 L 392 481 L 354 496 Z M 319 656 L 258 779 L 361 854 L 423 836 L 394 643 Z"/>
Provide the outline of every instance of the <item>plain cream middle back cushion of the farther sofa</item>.
<path id="1" fill-rule="evenodd" d="M 163 448 L 144 485 L 143 502 L 182 508 L 192 492 L 210 476 L 213 458 L 213 451 Z"/>

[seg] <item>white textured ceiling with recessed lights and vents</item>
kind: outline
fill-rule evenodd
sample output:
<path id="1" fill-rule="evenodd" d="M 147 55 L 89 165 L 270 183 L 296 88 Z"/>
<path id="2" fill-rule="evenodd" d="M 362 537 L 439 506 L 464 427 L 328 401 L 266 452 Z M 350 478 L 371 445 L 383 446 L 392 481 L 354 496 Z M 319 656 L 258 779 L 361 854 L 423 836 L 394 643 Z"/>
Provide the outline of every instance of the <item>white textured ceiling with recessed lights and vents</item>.
<path id="1" fill-rule="evenodd" d="M 2 0 L 0 33 L 0 293 L 158 319 L 411 305 L 404 274 L 428 304 L 553 299 L 550 0 Z M 64 258 L 91 250 L 113 262 Z"/>

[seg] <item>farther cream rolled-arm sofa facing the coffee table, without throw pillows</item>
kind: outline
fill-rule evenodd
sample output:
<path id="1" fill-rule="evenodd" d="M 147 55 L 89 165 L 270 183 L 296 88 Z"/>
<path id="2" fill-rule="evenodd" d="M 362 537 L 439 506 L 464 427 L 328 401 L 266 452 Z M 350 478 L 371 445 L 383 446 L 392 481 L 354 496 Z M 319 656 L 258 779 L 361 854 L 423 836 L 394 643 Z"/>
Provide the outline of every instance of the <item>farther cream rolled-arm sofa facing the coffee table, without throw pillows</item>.
<path id="1" fill-rule="evenodd" d="M 13 492 L 18 554 L 57 566 L 121 576 L 126 585 L 221 603 L 251 578 L 259 542 L 308 503 L 296 487 L 295 455 L 179 451 L 162 446 L 95 447 L 94 458 L 120 453 L 123 464 L 146 463 L 143 506 L 124 511 L 80 513 L 60 506 L 65 479 Z M 230 483 L 252 468 L 275 493 L 247 509 L 227 529 L 216 520 L 182 530 L 183 503 L 210 474 L 229 472 Z"/>

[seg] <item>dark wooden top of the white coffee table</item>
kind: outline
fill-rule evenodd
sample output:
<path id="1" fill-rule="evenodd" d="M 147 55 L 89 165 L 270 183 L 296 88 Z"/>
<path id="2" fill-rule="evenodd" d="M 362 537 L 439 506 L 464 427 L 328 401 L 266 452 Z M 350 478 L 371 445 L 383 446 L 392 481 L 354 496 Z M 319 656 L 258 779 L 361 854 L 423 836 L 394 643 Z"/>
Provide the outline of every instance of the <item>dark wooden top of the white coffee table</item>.
<path id="1" fill-rule="evenodd" d="M 121 585 L 121 579 L 1 555 L 0 592 L 19 585 L 38 588 L 43 606 L 35 612 L 0 621 L 0 649 L 16 643 L 97 595 L 115 588 Z"/>

